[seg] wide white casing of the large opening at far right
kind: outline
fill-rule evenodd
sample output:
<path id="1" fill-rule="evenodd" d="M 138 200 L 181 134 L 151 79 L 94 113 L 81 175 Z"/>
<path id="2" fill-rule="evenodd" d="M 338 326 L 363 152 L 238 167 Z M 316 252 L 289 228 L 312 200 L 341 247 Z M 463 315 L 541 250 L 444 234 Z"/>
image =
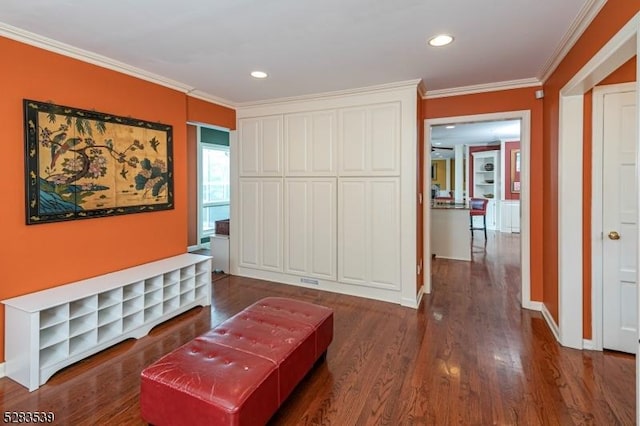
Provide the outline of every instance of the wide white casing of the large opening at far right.
<path id="1" fill-rule="evenodd" d="M 558 134 L 558 330 L 563 346 L 583 349 L 583 123 L 584 94 L 636 55 L 640 13 L 616 33 L 560 89 Z M 636 79 L 640 67 L 636 71 Z M 637 82 L 635 83 L 637 85 Z M 638 95 L 636 95 L 638 96 Z M 640 120 L 639 120 L 640 125 Z M 639 150 L 640 152 L 640 150 Z M 576 161 L 579 159 L 579 161 Z M 636 176 L 636 179 L 638 177 Z M 640 212 L 640 210 L 639 210 Z M 579 303 L 576 303 L 579 301 Z M 593 308 L 593 302 L 591 303 Z M 640 357 L 638 361 L 640 362 Z M 640 401 L 640 395 L 638 395 Z M 640 411 L 638 411 L 640 418 Z"/>

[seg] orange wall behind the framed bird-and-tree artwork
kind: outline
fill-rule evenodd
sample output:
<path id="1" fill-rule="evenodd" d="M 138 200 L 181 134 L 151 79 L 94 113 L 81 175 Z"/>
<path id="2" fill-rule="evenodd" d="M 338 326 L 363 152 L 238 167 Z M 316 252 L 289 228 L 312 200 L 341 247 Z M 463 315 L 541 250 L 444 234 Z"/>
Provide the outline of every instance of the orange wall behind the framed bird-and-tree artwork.
<path id="1" fill-rule="evenodd" d="M 0 79 L 4 141 L 0 156 L 0 300 L 184 253 L 187 96 L 2 37 L 0 52 L 10 58 Z M 172 125 L 175 208 L 25 225 L 24 98 Z M 206 121 L 215 124 L 217 118 L 210 114 Z M 3 306 L 0 354 L 4 354 Z"/>

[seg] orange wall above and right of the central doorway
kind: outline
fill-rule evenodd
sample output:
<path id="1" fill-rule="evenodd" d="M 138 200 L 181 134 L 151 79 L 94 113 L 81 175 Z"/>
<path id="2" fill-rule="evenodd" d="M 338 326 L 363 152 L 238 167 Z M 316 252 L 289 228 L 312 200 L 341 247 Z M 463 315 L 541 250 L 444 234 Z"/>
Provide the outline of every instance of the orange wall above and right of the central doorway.
<path id="1" fill-rule="evenodd" d="M 506 111 L 531 111 L 531 300 L 543 300 L 542 258 L 547 249 L 542 238 L 542 101 L 535 98 L 539 87 L 501 90 L 474 95 L 423 100 L 423 119 Z"/>

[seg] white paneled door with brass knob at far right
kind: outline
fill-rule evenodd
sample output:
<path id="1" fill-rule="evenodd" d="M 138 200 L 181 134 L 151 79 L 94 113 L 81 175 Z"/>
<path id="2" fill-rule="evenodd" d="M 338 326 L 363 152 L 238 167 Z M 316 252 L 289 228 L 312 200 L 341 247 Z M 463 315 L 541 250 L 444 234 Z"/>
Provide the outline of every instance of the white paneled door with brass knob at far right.
<path id="1" fill-rule="evenodd" d="M 635 92 L 604 95 L 603 347 L 635 353 L 637 188 Z"/>

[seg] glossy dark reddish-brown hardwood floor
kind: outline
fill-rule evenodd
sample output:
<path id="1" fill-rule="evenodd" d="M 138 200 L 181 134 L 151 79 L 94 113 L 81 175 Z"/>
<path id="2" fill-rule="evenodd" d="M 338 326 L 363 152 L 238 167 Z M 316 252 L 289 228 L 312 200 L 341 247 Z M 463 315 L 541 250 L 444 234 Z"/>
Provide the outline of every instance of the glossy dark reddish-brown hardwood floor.
<path id="1" fill-rule="evenodd" d="M 0 379 L 3 411 L 52 411 L 57 424 L 142 424 L 148 364 L 270 295 L 335 310 L 327 360 L 273 425 L 632 425 L 635 358 L 560 347 L 522 310 L 517 235 L 476 233 L 474 261 L 433 261 L 418 310 L 356 297 L 223 277 L 211 309 L 196 308 L 56 374 L 29 393 Z"/>

